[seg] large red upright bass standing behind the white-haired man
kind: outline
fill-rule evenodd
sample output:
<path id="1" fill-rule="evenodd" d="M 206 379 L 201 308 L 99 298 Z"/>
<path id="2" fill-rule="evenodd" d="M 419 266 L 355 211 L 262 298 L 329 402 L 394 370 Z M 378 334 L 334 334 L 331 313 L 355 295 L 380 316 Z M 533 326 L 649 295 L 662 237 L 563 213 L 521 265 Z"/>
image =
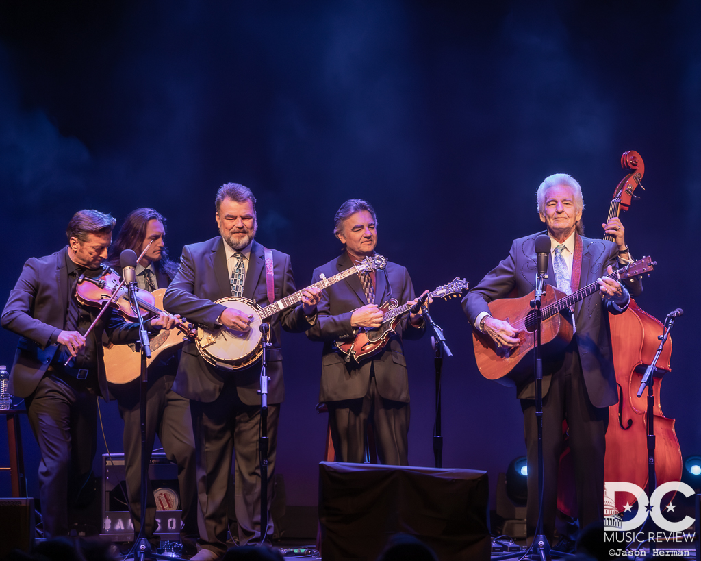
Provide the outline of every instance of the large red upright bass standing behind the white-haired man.
<path id="1" fill-rule="evenodd" d="M 635 189 L 641 187 L 645 173 L 643 158 L 637 151 L 627 151 L 621 156 L 621 166 L 630 171 L 618 184 L 608 211 L 608 219 L 618 217 L 621 210 L 628 210 Z M 605 240 L 615 241 L 606 234 Z M 625 481 L 646 489 L 648 484 L 647 452 L 647 399 L 637 397 L 637 391 L 646 366 L 651 364 L 658 349 L 658 335 L 664 331 L 660 321 L 641 309 L 631 299 L 628 309 L 617 316 L 609 314 L 611 344 L 618 403 L 608 408 L 608 430 L 606 431 L 606 456 L 604 457 L 604 481 Z M 669 358 L 672 355 L 672 339 L 665 345 L 653 379 L 655 402 L 655 478 L 657 485 L 681 478 L 681 449 L 674 432 L 674 419 L 667 419 L 660 407 L 660 385 L 662 377 L 671 371 Z M 565 514 L 576 516 L 576 493 L 574 492 L 571 459 L 566 449 L 560 459 L 558 485 L 558 508 Z M 611 497 L 613 498 L 613 497 Z M 615 505 L 618 512 L 636 497 L 628 493 L 617 493 Z"/>

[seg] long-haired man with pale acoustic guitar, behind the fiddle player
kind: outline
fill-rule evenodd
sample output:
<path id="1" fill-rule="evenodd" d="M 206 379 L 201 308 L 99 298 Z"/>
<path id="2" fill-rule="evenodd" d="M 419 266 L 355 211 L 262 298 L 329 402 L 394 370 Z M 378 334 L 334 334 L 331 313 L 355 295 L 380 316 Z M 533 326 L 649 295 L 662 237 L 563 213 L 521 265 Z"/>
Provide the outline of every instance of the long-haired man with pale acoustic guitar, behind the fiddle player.
<path id="1" fill-rule="evenodd" d="M 144 256 L 136 266 L 137 285 L 140 290 L 154 292 L 168 288 L 177 272 L 177 264 L 168 259 L 165 248 L 165 219 L 153 208 L 137 208 L 122 224 L 111 249 L 109 262 L 120 273 L 119 256 L 123 250 L 133 250 Z M 148 246 L 148 247 L 147 247 Z M 178 466 L 180 508 L 182 510 L 181 539 L 184 553 L 195 553 L 197 528 L 197 482 L 195 461 L 195 438 L 192 431 L 190 400 L 179 396 L 172 389 L 177 372 L 175 353 L 163 353 L 149 366 L 146 399 L 146 445 L 151 459 L 154 439 L 163 445 L 168 459 Z M 124 465 L 126 471 L 129 511 L 138 534 L 141 517 L 141 419 L 142 398 L 139 377 L 126 384 L 110 384 L 109 390 L 119 405 L 119 414 L 124 419 Z M 144 534 L 154 545 L 156 532 L 156 501 L 147 479 L 147 508 Z"/>

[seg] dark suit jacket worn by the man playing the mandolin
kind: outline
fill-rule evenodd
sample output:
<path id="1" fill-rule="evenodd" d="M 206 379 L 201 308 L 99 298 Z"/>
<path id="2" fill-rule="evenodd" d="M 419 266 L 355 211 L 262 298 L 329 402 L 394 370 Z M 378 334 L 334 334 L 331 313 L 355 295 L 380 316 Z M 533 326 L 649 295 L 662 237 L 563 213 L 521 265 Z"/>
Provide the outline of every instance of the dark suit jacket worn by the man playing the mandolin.
<path id="1" fill-rule="evenodd" d="M 315 269 L 312 282 L 318 282 L 321 273 L 329 278 L 351 266 L 351 259 L 344 251 L 340 257 Z M 405 304 L 415 297 L 409 272 L 396 263 L 389 262 L 384 271 L 376 271 L 375 283 L 375 304 L 378 306 L 390 297 L 397 299 L 400 304 Z M 351 315 L 353 310 L 365 304 L 368 302 L 358 275 L 351 275 L 322 292 L 316 323 L 307 331 L 307 337 L 312 341 L 324 342 L 319 400 L 327 402 L 362 398 L 369 386 L 370 367 L 374 365 L 379 394 L 386 399 L 407 403 L 409 376 L 402 339 L 420 338 L 426 330 L 426 325 L 413 327 L 407 314 L 397 324 L 397 334 L 390 338 L 381 353 L 362 361 L 360 365 L 346 363 L 333 343 L 350 341 L 355 337 L 351 327 Z"/>

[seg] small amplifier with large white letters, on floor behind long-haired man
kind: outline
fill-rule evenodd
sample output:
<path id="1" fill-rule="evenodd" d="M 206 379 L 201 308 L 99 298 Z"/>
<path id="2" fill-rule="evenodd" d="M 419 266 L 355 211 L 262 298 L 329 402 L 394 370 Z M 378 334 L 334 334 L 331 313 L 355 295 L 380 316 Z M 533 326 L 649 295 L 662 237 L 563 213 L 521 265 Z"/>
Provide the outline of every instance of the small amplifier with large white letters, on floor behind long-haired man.
<path id="1" fill-rule="evenodd" d="M 124 481 L 124 454 L 102 454 L 102 532 L 100 536 L 112 541 L 133 541 L 134 525 L 129 514 L 127 487 Z M 156 499 L 156 534 L 161 541 L 180 539 L 180 515 L 177 510 L 161 510 L 161 505 L 172 506 L 172 498 L 179 503 L 180 485 L 177 466 L 171 464 L 163 453 L 151 454 L 149 478 Z"/>

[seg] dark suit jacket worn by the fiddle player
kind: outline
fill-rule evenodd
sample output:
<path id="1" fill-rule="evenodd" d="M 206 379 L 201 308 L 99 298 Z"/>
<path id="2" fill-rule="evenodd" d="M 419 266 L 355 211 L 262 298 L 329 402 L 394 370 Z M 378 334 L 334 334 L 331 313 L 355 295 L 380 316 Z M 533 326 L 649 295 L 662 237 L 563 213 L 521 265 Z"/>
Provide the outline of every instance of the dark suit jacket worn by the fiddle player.
<path id="1" fill-rule="evenodd" d="M 10 378 L 10 391 L 20 398 L 32 395 L 58 349 L 56 337 L 64 328 L 68 307 L 66 253 L 67 247 L 27 260 L 2 313 L 2 326 L 20 335 Z M 97 313 L 97 308 L 91 311 L 93 318 Z M 121 344 L 134 341 L 138 330 L 137 325 L 108 310 L 88 335 L 96 342 L 100 394 L 108 399 L 102 344 L 97 343 L 103 332 L 112 342 Z"/>

